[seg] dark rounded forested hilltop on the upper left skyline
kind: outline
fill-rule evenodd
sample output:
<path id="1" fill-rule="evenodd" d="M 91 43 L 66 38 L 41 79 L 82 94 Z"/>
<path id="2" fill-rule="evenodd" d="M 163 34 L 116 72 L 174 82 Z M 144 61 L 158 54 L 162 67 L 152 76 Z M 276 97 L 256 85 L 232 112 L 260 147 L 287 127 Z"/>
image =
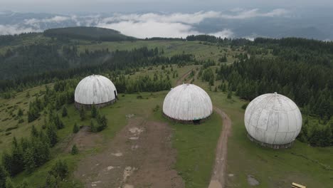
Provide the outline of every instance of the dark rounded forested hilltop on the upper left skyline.
<path id="1" fill-rule="evenodd" d="M 44 31 L 44 36 L 76 38 L 95 41 L 133 41 L 136 38 L 125 36 L 119 31 L 110 28 L 98 27 L 68 27 L 68 28 L 51 28 Z"/>

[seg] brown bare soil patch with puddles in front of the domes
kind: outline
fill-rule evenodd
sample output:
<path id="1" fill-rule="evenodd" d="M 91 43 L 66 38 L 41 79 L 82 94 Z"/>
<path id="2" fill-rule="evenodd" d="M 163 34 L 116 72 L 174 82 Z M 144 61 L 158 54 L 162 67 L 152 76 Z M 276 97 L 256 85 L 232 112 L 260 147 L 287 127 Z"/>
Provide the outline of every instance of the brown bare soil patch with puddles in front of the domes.
<path id="1" fill-rule="evenodd" d="M 181 188 L 184 182 L 172 169 L 174 162 L 171 128 L 133 117 L 103 152 L 82 160 L 74 175 L 85 187 Z"/>

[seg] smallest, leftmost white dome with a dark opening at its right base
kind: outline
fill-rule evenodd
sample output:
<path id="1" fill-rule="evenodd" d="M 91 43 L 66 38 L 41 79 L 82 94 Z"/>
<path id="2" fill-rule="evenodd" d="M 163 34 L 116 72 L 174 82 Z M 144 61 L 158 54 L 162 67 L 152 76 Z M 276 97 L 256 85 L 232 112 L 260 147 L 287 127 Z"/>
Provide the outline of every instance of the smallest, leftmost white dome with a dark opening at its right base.
<path id="1" fill-rule="evenodd" d="M 98 105 L 115 100 L 117 90 L 111 80 L 102 75 L 89 75 L 75 88 L 75 102 L 83 105 Z"/>

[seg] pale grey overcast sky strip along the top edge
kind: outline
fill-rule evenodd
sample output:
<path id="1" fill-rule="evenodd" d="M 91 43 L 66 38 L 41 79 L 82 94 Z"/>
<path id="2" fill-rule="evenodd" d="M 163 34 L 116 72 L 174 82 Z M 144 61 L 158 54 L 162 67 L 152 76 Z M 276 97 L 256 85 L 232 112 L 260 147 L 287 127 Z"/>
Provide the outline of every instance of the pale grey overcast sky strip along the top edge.
<path id="1" fill-rule="evenodd" d="M 0 0 L 0 10 L 46 13 L 223 11 L 241 8 L 333 7 L 332 0 Z"/>

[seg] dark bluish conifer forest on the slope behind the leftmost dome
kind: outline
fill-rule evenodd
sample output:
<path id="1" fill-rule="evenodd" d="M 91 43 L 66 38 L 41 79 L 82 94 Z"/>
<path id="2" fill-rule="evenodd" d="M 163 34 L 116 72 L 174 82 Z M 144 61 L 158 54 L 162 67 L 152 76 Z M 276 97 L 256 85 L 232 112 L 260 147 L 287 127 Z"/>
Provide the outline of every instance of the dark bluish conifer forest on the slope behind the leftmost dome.
<path id="1" fill-rule="evenodd" d="M 40 53 L 41 51 L 45 53 Z M 60 48 L 56 45 L 33 45 L 21 47 L 7 51 L 2 56 L 5 59 L 2 63 L 0 57 L 0 65 L 3 67 L 2 74 L 11 75 L 11 79 L 0 80 L 0 90 L 10 91 L 11 88 L 20 90 L 25 85 L 50 83 L 55 79 L 64 80 L 93 73 L 126 71 L 143 66 L 171 63 L 185 65 L 196 61 L 191 54 L 182 53 L 165 57 L 163 53 L 158 48 L 149 49 L 147 47 L 113 52 L 106 48 L 96 51 L 86 50 L 82 53 L 79 53 L 75 46 L 62 46 Z"/>

